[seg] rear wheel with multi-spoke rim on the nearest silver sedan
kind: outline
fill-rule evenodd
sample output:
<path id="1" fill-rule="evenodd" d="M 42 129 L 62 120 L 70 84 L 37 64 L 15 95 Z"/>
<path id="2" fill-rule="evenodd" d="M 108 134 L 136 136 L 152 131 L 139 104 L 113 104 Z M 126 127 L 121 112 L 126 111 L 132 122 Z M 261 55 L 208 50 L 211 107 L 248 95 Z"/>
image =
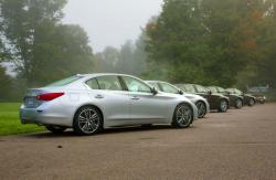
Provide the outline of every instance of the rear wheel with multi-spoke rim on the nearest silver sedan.
<path id="1" fill-rule="evenodd" d="M 94 135 L 103 129 L 102 113 L 94 106 L 81 107 L 74 117 L 73 129 L 78 135 Z"/>

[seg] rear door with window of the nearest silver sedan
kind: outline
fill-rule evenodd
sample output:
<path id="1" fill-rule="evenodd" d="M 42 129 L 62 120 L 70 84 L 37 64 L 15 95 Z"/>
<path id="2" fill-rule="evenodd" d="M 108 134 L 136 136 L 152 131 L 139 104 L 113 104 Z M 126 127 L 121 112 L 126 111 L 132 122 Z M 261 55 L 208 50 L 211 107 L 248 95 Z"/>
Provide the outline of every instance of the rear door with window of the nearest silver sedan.
<path id="1" fill-rule="evenodd" d="M 92 103 L 104 113 L 106 126 L 126 125 L 129 118 L 129 94 L 116 75 L 97 76 L 86 82 Z"/>

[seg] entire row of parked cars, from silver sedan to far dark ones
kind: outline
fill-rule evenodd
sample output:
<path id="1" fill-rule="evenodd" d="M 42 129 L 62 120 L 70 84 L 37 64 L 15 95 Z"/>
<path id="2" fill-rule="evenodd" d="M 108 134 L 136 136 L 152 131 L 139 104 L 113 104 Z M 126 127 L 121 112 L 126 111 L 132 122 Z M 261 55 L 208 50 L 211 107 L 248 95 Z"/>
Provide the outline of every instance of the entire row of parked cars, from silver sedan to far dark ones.
<path id="1" fill-rule="evenodd" d="M 254 106 L 257 100 L 236 88 L 172 85 L 125 74 L 78 74 L 29 89 L 20 119 L 22 124 L 45 126 L 52 133 L 73 128 L 79 135 L 153 124 L 187 128 L 210 109 L 224 113 L 231 106 Z"/>

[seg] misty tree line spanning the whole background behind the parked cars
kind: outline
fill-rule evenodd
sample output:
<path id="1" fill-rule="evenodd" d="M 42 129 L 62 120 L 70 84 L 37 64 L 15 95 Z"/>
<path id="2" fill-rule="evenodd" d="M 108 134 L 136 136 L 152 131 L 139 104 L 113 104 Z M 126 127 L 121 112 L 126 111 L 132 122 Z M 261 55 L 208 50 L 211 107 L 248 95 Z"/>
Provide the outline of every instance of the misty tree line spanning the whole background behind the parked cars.
<path id="1" fill-rule="evenodd" d="M 0 99 L 77 73 L 126 73 L 172 83 L 276 85 L 276 0 L 163 0 L 137 41 L 93 53 L 64 24 L 66 0 L 0 0 Z"/>

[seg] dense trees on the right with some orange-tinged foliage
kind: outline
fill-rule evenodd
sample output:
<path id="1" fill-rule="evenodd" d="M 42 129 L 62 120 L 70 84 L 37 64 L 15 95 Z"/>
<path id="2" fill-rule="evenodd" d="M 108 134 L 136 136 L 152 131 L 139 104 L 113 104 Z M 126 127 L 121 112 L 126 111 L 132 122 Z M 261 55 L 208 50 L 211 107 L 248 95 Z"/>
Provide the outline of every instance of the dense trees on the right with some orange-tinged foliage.
<path id="1" fill-rule="evenodd" d="M 164 0 L 147 25 L 149 75 L 221 86 L 276 85 L 275 0 Z M 151 73 L 152 72 L 152 73 Z"/>

